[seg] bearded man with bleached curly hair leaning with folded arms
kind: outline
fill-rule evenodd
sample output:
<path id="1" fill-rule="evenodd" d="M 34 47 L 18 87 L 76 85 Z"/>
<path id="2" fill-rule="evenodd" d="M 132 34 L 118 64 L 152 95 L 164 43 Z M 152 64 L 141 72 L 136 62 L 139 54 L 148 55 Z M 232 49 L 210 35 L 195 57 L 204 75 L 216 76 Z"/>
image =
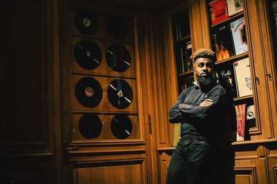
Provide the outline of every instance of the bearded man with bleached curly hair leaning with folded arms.
<path id="1" fill-rule="evenodd" d="M 215 83 L 215 52 L 199 49 L 192 59 L 197 80 L 181 92 L 169 112 L 170 123 L 181 123 L 181 139 L 172 153 L 167 184 L 213 183 L 213 147 L 219 141 L 226 91 Z"/>

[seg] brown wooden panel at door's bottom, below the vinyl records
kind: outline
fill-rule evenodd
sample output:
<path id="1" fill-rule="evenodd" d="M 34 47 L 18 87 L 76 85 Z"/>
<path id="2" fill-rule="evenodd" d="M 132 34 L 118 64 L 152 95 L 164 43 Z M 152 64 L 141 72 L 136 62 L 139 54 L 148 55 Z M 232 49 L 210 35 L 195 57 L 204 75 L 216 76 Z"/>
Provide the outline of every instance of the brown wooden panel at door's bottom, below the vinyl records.
<path id="1" fill-rule="evenodd" d="M 78 163 L 74 168 L 75 184 L 146 183 L 145 161 Z"/>

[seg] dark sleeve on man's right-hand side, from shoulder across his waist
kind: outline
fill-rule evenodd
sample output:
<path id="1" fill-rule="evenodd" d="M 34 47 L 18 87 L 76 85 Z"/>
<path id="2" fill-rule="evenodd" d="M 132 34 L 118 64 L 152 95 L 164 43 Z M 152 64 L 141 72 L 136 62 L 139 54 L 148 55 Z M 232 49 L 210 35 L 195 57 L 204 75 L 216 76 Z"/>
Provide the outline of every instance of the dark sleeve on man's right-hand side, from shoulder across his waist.
<path id="1" fill-rule="evenodd" d="M 208 96 L 207 99 L 213 100 L 213 104 L 208 107 L 201 107 L 199 105 L 188 105 L 184 103 L 178 103 L 178 110 L 182 114 L 182 117 L 194 120 L 203 120 L 216 113 L 220 113 L 220 110 L 224 108 L 226 103 L 226 92 L 220 85 L 215 86 Z"/>

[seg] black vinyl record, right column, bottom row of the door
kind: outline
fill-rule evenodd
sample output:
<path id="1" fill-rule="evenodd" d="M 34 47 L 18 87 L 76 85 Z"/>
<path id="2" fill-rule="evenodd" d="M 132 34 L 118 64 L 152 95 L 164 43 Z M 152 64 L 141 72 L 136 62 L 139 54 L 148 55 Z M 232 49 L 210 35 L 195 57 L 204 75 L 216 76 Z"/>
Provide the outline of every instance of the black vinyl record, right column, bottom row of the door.
<path id="1" fill-rule="evenodd" d="M 116 114 L 111 119 L 111 132 L 117 139 L 127 139 L 132 134 L 132 121 L 126 114 Z"/>

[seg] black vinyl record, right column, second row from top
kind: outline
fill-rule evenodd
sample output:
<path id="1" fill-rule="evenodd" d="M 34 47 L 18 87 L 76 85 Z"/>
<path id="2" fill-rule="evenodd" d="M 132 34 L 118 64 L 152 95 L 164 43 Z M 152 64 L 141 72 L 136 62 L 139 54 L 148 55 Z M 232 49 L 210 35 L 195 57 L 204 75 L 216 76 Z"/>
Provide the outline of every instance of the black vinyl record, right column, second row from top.
<path id="1" fill-rule="evenodd" d="M 112 44 L 107 48 L 106 60 L 109 67 L 116 72 L 124 72 L 131 65 L 129 51 L 120 44 Z"/>

